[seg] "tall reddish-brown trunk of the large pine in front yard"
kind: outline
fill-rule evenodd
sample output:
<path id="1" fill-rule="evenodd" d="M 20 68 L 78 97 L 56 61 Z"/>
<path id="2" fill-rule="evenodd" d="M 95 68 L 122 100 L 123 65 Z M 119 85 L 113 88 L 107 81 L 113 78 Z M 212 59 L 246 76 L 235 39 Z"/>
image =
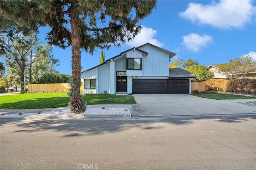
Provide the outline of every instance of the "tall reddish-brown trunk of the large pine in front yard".
<path id="1" fill-rule="evenodd" d="M 78 26 L 78 14 L 74 6 L 77 2 L 72 2 L 70 8 L 71 41 L 72 41 L 72 80 L 70 81 L 70 103 L 71 112 L 78 114 L 84 113 L 85 107 L 82 96 L 80 95 L 81 86 L 81 49 L 80 49 L 80 28 Z"/>

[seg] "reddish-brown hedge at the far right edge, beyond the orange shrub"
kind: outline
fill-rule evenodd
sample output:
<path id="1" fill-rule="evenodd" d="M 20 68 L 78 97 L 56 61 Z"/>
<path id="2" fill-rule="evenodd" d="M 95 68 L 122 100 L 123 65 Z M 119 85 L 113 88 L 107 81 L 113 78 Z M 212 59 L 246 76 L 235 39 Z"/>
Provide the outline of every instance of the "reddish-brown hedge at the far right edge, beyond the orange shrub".
<path id="1" fill-rule="evenodd" d="M 230 92 L 256 94 L 256 79 L 233 79 L 230 81 Z"/>

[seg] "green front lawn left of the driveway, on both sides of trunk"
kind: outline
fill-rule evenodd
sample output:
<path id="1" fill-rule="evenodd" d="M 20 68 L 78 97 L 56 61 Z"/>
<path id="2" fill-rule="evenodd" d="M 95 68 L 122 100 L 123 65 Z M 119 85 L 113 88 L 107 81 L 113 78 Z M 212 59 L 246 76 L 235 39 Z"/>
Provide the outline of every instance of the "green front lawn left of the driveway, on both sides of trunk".
<path id="1" fill-rule="evenodd" d="M 88 105 L 136 104 L 132 95 L 82 95 Z M 68 106 L 67 93 L 28 93 L 0 96 L 0 109 L 42 109 Z"/>

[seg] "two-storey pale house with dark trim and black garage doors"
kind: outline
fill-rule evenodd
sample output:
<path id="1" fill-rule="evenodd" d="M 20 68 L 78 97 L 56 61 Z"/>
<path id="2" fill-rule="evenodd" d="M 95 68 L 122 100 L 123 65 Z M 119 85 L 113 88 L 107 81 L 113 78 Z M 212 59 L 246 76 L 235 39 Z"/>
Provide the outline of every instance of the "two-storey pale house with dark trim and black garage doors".
<path id="1" fill-rule="evenodd" d="M 194 78 L 169 69 L 176 54 L 150 43 L 134 47 L 81 73 L 84 93 L 190 94 Z"/>

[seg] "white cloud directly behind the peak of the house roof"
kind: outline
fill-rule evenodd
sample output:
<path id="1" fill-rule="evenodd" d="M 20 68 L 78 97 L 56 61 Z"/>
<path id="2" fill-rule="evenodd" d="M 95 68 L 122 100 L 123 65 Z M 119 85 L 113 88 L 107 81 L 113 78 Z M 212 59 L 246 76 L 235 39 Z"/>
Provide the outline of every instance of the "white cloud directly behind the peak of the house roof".
<path id="1" fill-rule="evenodd" d="M 157 34 L 156 30 L 142 26 L 142 30 L 140 31 L 140 33 L 134 38 L 134 40 L 127 42 L 127 45 L 131 47 L 138 47 L 145 43 L 151 43 L 158 47 L 162 47 L 164 43 L 161 43 L 154 38 L 156 34 Z"/>

